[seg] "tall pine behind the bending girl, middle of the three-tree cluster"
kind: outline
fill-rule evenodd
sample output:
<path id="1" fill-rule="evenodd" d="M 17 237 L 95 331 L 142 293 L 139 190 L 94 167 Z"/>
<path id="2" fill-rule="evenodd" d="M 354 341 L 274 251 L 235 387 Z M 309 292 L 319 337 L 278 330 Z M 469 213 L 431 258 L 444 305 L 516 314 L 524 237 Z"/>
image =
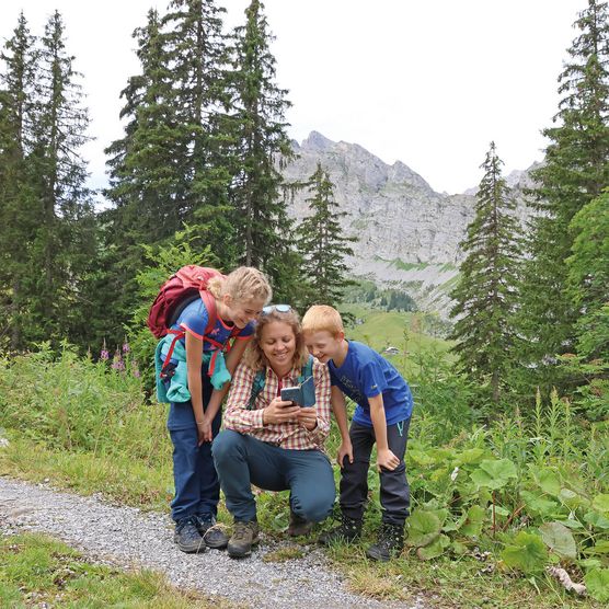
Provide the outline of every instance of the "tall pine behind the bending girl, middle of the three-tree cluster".
<path id="1" fill-rule="evenodd" d="M 184 174 L 184 221 L 226 266 L 237 253 L 228 194 L 231 172 L 225 151 L 223 117 L 230 107 L 229 49 L 222 13 L 212 0 L 173 0 L 162 20 L 172 66 L 181 127 L 180 166 Z M 225 111 L 225 112 L 222 112 Z"/>

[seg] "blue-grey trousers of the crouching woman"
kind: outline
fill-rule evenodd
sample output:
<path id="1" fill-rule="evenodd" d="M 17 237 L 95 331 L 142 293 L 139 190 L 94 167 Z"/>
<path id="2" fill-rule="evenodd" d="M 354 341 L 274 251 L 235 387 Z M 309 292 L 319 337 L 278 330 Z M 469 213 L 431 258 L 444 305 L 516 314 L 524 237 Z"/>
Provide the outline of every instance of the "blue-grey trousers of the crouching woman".
<path id="1" fill-rule="evenodd" d="M 235 520 L 255 520 L 252 484 L 267 491 L 290 490 L 291 510 L 321 522 L 332 510 L 335 487 L 332 466 L 320 450 L 291 450 L 231 429 L 214 440 L 214 461 Z"/>

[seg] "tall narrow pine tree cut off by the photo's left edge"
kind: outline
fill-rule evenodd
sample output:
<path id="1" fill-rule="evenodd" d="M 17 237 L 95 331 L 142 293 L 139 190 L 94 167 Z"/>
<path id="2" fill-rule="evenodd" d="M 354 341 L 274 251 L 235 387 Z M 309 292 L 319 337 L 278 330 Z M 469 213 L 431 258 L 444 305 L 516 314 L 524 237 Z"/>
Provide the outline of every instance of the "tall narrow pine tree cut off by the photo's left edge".
<path id="1" fill-rule="evenodd" d="M 24 346 L 21 315 L 28 295 L 23 277 L 39 216 L 27 166 L 37 53 L 23 13 L 1 58 L 5 71 L 0 74 L 0 341 L 15 351 Z"/>

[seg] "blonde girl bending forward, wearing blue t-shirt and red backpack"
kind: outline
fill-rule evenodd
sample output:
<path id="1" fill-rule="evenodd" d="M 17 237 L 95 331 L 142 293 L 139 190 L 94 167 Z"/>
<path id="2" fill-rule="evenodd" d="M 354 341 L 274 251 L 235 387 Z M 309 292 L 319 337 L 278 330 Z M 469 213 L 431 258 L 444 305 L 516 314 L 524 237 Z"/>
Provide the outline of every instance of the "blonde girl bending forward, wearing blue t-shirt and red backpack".
<path id="1" fill-rule="evenodd" d="M 179 313 L 171 326 L 184 332 L 177 346 L 185 352 L 186 395 L 189 394 L 187 401 L 171 402 L 168 418 L 175 483 L 171 514 L 175 521 L 174 541 L 183 552 L 202 552 L 206 545 L 225 548 L 228 542 L 221 529 L 214 527 L 220 485 L 211 445 L 206 440 L 211 440 L 220 429 L 220 404 L 229 383 L 219 391 L 212 389 L 208 376 L 209 355 L 234 337 L 226 358 L 226 367 L 232 374 L 252 337 L 253 321 L 271 298 L 265 276 L 248 266 L 226 277 L 211 278 L 207 290 L 216 303 L 215 325 L 206 332 L 209 311 L 197 298 Z"/>

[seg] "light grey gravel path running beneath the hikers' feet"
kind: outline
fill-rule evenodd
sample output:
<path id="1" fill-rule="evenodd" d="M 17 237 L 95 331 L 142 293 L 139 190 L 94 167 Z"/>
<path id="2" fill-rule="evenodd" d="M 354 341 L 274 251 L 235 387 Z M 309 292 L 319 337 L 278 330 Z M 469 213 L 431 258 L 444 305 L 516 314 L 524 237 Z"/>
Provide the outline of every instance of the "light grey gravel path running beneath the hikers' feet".
<path id="1" fill-rule="evenodd" d="M 160 571 L 176 586 L 240 607 L 422 608 L 421 601 L 379 602 L 347 591 L 314 545 L 301 548 L 303 558 L 283 563 L 267 563 L 263 556 L 289 542 L 272 542 L 264 537 L 260 549 L 241 561 L 218 550 L 184 554 L 173 544 L 169 516 L 0 476 L 0 532 L 22 530 L 47 532 L 97 562 Z"/>

